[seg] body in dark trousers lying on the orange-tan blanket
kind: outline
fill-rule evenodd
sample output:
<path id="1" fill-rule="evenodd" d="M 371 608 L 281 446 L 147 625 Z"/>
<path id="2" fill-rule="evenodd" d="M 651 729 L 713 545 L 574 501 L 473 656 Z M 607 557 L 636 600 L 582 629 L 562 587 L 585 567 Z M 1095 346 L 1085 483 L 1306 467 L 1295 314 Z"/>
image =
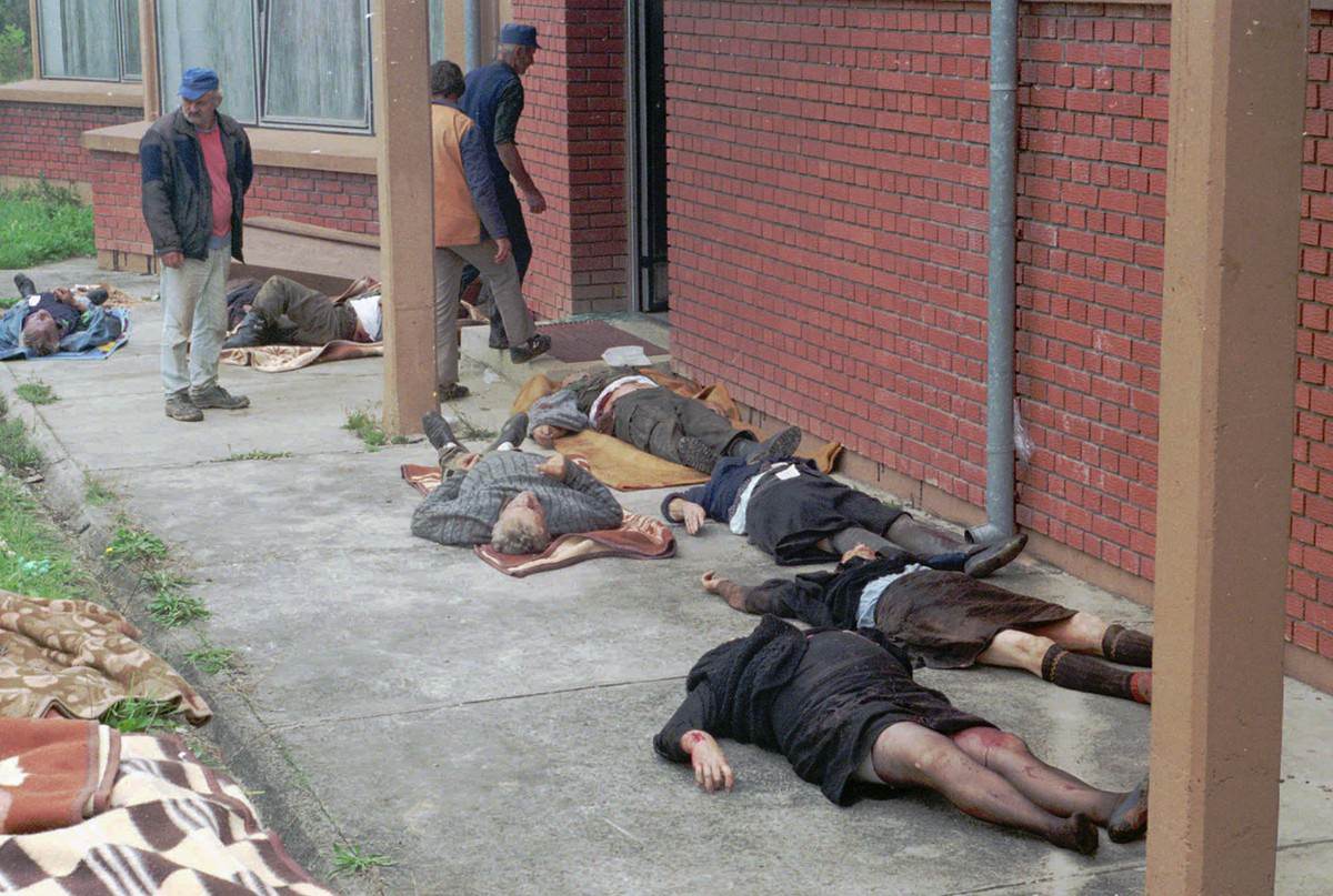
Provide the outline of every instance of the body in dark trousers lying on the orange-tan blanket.
<path id="1" fill-rule="evenodd" d="M 789 427 L 766 441 L 705 401 L 657 385 L 631 367 L 612 367 L 569 380 L 528 409 L 532 439 L 552 448 L 556 439 L 596 429 L 673 464 L 710 473 L 722 457 L 764 460 L 796 451 L 801 431 Z"/>

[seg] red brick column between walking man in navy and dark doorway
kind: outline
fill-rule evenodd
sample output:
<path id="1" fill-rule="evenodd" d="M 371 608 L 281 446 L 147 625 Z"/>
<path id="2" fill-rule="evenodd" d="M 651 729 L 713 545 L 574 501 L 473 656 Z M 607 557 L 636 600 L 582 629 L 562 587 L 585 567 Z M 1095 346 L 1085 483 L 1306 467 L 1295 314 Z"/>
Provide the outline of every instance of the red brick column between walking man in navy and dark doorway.
<path id="1" fill-rule="evenodd" d="M 528 213 L 528 305 L 555 317 L 624 311 L 625 28 L 623 0 L 515 0 L 513 20 L 537 27 L 524 76 L 519 148 L 547 197 Z"/>

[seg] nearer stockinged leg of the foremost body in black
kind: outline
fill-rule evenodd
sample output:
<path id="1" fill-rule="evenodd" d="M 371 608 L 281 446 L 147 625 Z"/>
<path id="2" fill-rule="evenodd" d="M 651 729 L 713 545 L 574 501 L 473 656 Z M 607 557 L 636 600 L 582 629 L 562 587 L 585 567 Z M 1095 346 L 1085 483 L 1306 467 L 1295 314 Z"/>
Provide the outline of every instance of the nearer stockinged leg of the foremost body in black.
<path id="1" fill-rule="evenodd" d="M 982 821 L 1028 831 L 1085 855 L 1097 849 L 1097 829 L 1088 816 L 1065 819 L 1044 809 L 953 740 L 916 723 L 889 725 L 874 741 L 870 765 L 874 777 L 869 780 L 926 787 Z M 866 771 L 861 775 L 868 777 Z"/>

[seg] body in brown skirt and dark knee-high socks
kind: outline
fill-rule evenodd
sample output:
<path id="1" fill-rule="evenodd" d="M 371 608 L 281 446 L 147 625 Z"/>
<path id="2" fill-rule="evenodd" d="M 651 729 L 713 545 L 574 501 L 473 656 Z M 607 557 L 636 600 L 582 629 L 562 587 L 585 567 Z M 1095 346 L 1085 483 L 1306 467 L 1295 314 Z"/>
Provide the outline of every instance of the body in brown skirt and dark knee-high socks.
<path id="1" fill-rule="evenodd" d="M 1150 635 L 960 572 L 877 557 L 865 545 L 848 551 L 832 572 L 769 579 L 752 588 L 706 572 L 702 585 L 746 613 L 874 628 L 932 669 L 1002 665 L 1062 688 L 1152 703 L 1153 673 L 1113 664 L 1150 667 Z"/>

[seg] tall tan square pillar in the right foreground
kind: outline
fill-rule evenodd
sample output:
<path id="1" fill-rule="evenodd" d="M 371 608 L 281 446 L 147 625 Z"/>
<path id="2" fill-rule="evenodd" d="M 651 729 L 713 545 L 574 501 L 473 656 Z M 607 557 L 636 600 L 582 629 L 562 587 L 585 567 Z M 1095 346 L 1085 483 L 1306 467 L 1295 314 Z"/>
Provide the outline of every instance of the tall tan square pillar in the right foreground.
<path id="1" fill-rule="evenodd" d="M 1148 891 L 1273 891 L 1309 0 L 1172 4 Z"/>

